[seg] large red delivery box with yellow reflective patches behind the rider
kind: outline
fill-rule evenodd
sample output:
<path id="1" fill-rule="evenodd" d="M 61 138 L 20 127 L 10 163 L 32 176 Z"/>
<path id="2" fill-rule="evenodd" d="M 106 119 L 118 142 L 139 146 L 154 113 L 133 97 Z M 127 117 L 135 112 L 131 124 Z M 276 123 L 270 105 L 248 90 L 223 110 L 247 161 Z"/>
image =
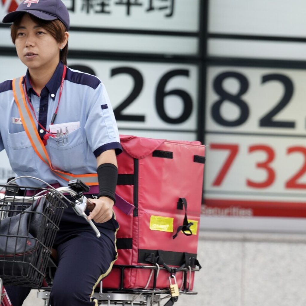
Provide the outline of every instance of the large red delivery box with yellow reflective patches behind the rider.
<path id="1" fill-rule="evenodd" d="M 192 290 L 203 191 L 205 146 L 121 135 L 117 200 L 134 205 L 131 214 L 114 207 L 119 223 L 118 259 L 104 288 Z M 153 269 L 154 268 L 154 269 Z"/>

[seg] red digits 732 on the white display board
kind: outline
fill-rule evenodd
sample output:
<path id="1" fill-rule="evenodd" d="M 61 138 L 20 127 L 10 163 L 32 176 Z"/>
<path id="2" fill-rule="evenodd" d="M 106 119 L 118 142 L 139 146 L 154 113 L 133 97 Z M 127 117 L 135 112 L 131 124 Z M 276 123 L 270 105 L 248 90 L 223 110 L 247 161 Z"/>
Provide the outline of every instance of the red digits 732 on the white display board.
<path id="1" fill-rule="evenodd" d="M 223 163 L 219 173 L 215 177 L 215 180 L 213 181 L 213 186 L 220 186 L 226 177 L 226 174 L 229 172 L 230 167 L 232 166 L 238 151 L 239 151 L 239 145 L 238 144 L 211 144 L 210 145 L 211 150 L 227 150 L 229 151 L 229 154 L 227 155 L 227 158 L 225 162 Z M 264 181 L 257 182 L 252 181 L 250 179 L 246 180 L 246 184 L 249 187 L 253 188 L 267 188 L 271 186 L 275 181 L 275 170 L 271 167 L 271 163 L 274 161 L 275 153 L 273 148 L 257 144 L 252 145 L 248 147 L 248 153 L 251 154 L 256 151 L 262 151 L 266 154 L 266 158 L 262 162 L 256 163 L 256 168 L 263 169 L 266 171 L 267 176 Z M 304 175 L 306 172 L 306 148 L 305 147 L 289 147 L 287 149 L 287 154 L 292 153 L 301 153 L 304 156 L 304 164 L 301 166 L 301 168 L 297 171 L 296 174 L 294 174 L 288 181 L 285 182 L 286 188 L 299 188 L 303 189 L 306 188 L 306 184 L 298 183 L 298 179 Z"/>

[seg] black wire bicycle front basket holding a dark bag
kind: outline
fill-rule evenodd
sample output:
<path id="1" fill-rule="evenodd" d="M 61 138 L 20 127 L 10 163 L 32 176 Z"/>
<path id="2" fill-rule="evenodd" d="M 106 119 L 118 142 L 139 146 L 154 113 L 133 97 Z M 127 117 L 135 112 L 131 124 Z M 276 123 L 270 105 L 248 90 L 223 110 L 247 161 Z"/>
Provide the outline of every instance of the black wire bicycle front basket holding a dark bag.
<path id="1" fill-rule="evenodd" d="M 0 194 L 0 278 L 4 285 L 39 287 L 67 206 L 56 190 L 20 187 L 24 195 L 45 195 L 16 196 L 9 188 Z"/>

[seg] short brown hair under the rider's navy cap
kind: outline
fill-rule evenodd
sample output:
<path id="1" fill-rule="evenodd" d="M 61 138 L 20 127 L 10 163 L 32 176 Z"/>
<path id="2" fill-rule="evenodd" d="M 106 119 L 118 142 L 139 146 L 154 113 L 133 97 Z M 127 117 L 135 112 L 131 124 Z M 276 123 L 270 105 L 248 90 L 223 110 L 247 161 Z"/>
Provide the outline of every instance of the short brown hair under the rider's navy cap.
<path id="1" fill-rule="evenodd" d="M 24 14 L 19 15 L 15 20 L 13 25 L 11 26 L 11 38 L 13 41 L 13 44 L 15 44 L 15 40 L 17 37 L 17 30 L 19 28 L 19 25 L 21 23 L 21 19 L 23 17 Z M 31 14 L 29 14 L 30 18 L 36 23 L 38 24 L 40 27 L 46 29 L 48 32 L 50 32 L 50 34 L 52 35 L 52 37 L 58 42 L 61 43 L 64 40 L 64 33 L 67 31 L 65 25 L 62 23 L 62 21 L 60 21 L 59 19 L 55 19 L 55 20 L 43 20 L 43 19 L 39 19 Z M 66 46 L 63 48 L 62 51 L 60 51 L 60 60 L 67 65 L 67 55 L 68 55 L 68 42 L 66 44 Z"/>

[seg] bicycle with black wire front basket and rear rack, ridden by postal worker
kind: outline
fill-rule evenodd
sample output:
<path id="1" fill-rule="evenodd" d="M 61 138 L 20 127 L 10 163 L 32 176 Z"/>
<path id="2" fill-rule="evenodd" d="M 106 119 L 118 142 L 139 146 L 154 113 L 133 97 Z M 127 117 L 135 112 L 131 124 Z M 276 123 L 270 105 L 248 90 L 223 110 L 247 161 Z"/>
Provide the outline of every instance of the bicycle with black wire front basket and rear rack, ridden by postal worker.
<path id="1" fill-rule="evenodd" d="M 17 178 L 16 178 L 17 179 Z M 15 180 L 16 180 L 15 179 Z M 72 205 L 77 215 L 85 218 L 87 221 L 87 215 L 85 210 L 88 205 L 88 199 L 84 196 L 84 192 L 88 192 L 89 188 L 79 180 L 70 181 L 69 187 L 53 188 L 35 188 L 25 186 L 12 186 L 13 181 L 10 181 L 6 185 L 6 192 L 0 193 L 0 219 L 12 220 L 12 217 L 17 216 L 18 227 L 24 219 L 28 218 L 27 234 L 20 235 L 20 233 L 0 234 L 0 238 L 6 238 L 6 254 L 0 254 L 0 292 L 1 294 L 1 306 L 12 305 L 8 295 L 5 291 L 3 282 L 7 285 L 26 285 L 33 289 L 38 289 L 37 297 L 43 299 L 45 306 L 49 305 L 49 295 L 52 288 L 52 278 L 54 270 L 56 269 L 56 263 L 51 258 L 51 248 L 55 239 L 56 231 L 65 207 Z M 48 185 L 48 184 L 47 184 Z M 27 190 L 32 190 L 34 195 L 18 196 L 17 190 L 19 188 L 24 189 L 24 194 Z M 37 192 L 37 194 L 35 194 Z M 69 194 L 72 200 L 67 199 L 65 194 Z M 37 202 L 39 202 L 37 204 Z M 40 203 L 41 202 L 41 203 Z M 40 207 L 37 210 L 37 207 Z M 9 219 L 10 218 L 10 219 Z M 0 227 L 1 227 L 0 221 Z M 5 221 L 2 221 L 5 222 Z M 96 236 L 99 237 L 99 230 L 94 223 L 88 221 L 92 229 L 95 231 Z M 33 229 L 33 223 L 35 226 Z M 30 225 L 31 224 L 31 225 Z M 37 232 L 39 226 L 40 231 Z M 31 228 L 32 227 L 32 228 Z M 33 235 L 34 234 L 34 235 Z M 35 237 L 36 236 L 36 237 Z M 12 244 L 15 241 L 14 254 L 8 254 L 7 245 Z M 34 244 L 32 252 L 29 250 L 29 244 Z M 23 249 L 18 250 L 17 245 L 22 245 Z M 19 256 L 19 257 L 18 257 Z M 19 259 L 19 260 L 18 260 Z M 4 267 L 3 267 L 4 266 Z M 182 283 L 181 288 L 178 288 L 175 281 L 175 269 L 174 274 L 169 277 L 170 287 L 165 289 L 157 289 L 156 279 L 158 277 L 160 269 L 166 269 L 160 267 L 158 264 L 153 266 L 116 266 L 121 271 L 121 284 L 118 289 L 105 289 L 103 288 L 103 281 L 100 282 L 98 288 L 92 298 L 98 300 L 98 305 L 113 305 L 113 304 L 140 304 L 140 305 L 160 305 L 165 299 L 170 298 L 165 305 L 173 305 L 177 301 L 179 294 L 197 294 L 197 292 L 191 291 L 187 288 L 186 280 L 189 272 L 189 277 L 192 271 L 199 271 L 199 268 L 180 267 L 180 271 L 184 271 L 185 282 Z M 126 268 L 134 269 L 150 269 L 150 279 L 153 277 L 153 289 L 124 289 L 123 277 L 124 270 Z M 6 273 L 4 273 L 6 271 Z M 148 280 L 148 283 L 150 281 Z M 173 282 L 173 284 L 172 284 Z M 190 280 L 189 280 L 190 283 Z"/>

